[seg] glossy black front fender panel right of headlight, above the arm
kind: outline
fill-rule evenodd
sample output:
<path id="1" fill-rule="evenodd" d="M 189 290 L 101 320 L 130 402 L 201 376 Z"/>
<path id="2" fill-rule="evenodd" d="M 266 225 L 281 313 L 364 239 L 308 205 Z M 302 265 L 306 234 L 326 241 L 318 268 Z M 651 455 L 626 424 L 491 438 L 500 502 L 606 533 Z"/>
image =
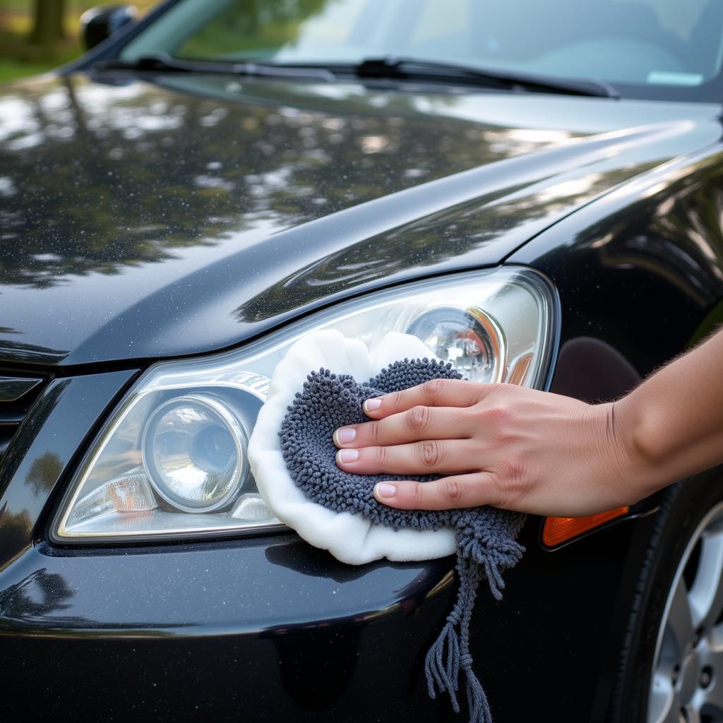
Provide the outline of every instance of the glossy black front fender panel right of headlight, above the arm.
<path id="1" fill-rule="evenodd" d="M 551 275 L 566 338 L 602 339 L 644 376 L 697 340 L 699 326 L 711 330 L 711 312 L 723 320 L 720 208 L 717 143 L 623 184 L 508 262 Z"/>

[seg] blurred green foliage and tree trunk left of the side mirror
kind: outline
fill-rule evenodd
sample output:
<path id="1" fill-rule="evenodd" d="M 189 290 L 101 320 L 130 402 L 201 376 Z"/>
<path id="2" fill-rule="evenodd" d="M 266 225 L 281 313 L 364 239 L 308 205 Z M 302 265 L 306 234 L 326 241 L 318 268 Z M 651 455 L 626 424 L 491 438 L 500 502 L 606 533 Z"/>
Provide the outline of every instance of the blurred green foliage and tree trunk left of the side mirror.
<path id="1" fill-rule="evenodd" d="M 144 13 L 157 1 L 132 4 Z M 0 0 L 0 82 L 46 72 L 82 54 L 80 16 L 102 4 L 103 0 Z"/>

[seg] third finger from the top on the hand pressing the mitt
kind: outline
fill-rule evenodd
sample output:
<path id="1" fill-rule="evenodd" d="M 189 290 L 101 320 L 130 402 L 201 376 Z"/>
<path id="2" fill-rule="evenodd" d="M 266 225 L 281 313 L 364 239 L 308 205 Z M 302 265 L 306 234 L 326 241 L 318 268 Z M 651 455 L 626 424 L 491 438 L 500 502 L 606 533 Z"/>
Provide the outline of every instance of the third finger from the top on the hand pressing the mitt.
<path id="1" fill-rule="evenodd" d="M 448 474 L 479 469 L 479 445 L 471 440 L 424 440 L 408 445 L 341 449 L 337 465 L 353 474 Z"/>

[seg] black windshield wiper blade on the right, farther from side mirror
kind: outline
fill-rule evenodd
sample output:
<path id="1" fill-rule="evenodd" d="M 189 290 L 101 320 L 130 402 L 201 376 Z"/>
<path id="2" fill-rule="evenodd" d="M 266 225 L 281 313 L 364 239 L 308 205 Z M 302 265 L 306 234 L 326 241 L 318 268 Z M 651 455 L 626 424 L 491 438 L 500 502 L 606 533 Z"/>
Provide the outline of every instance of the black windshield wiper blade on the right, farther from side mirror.
<path id="1" fill-rule="evenodd" d="M 487 87 L 520 87 L 539 93 L 591 95 L 620 98 L 612 85 L 599 78 L 559 78 L 536 73 L 476 68 L 434 60 L 388 56 L 369 58 L 353 67 L 362 78 L 398 78 L 400 80 L 444 80 Z"/>

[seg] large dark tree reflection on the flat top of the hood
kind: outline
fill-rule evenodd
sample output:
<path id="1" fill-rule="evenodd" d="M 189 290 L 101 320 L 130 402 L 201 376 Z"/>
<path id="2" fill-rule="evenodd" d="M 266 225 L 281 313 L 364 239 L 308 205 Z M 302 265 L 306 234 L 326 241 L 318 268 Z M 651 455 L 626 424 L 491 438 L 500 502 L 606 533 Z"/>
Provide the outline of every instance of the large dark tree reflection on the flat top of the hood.
<path id="1" fill-rule="evenodd" d="M 193 95 L 185 78 L 161 87 L 74 76 L 0 97 L 0 281 L 43 288 L 121 273 L 513 153 L 471 121 L 430 122 L 408 93 L 343 85 L 324 99 L 311 86 L 256 81 L 244 84 L 254 101 L 239 103 L 228 81 L 196 79 L 206 92 Z M 266 91 L 273 102 L 260 100 Z M 314 110 L 298 107 L 304 93 Z"/>

